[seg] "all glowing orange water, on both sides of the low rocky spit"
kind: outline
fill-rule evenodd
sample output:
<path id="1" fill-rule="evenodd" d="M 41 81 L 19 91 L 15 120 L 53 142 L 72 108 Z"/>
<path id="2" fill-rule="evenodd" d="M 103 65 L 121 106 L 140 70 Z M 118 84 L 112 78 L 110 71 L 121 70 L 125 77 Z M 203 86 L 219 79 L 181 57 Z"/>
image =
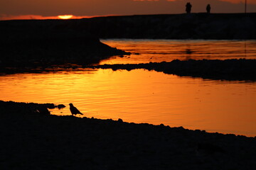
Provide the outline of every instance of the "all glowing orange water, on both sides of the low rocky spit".
<path id="1" fill-rule="evenodd" d="M 186 60 L 188 58 L 186 55 L 194 59 L 227 59 L 233 58 L 230 55 L 231 51 L 235 51 L 233 53 L 237 58 L 256 58 L 253 41 L 247 42 L 247 49 L 250 50 L 247 50 L 246 56 L 242 53 L 245 47 L 243 42 L 238 41 L 103 40 L 103 42 L 130 52 L 139 52 L 141 55 L 112 57 L 102 63 L 159 62 L 171 61 L 178 57 Z M 190 49 L 193 51 L 190 54 L 184 53 L 184 49 L 186 51 L 184 47 L 189 44 L 188 42 L 191 42 Z M 219 46 L 218 43 L 229 46 L 225 49 L 224 45 Z M 181 49 L 173 52 L 172 47 L 178 48 L 178 45 Z M 207 52 L 206 46 L 211 46 L 211 50 Z M 219 52 L 212 49 L 219 47 L 223 49 L 223 54 L 218 57 Z M 199 55 L 199 51 L 211 52 L 212 57 Z M 122 118 L 124 121 L 134 123 L 154 125 L 164 123 L 171 127 L 183 126 L 208 132 L 255 136 L 255 85 L 255 82 L 178 77 L 144 69 L 130 72 L 85 69 L 1 76 L 0 99 L 63 103 L 66 106 L 68 103 L 74 103 L 89 118 L 114 120 Z M 52 113 L 70 115 L 68 107 L 52 110 Z"/>

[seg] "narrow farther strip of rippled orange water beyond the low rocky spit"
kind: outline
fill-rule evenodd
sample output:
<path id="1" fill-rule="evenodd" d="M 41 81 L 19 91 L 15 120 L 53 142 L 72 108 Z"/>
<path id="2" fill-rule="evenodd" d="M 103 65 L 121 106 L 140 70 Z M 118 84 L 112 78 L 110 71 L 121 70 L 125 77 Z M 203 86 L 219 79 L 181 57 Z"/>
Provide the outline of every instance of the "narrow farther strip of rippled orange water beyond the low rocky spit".
<path id="1" fill-rule="evenodd" d="M 133 55 L 112 57 L 100 64 L 171 62 L 172 60 L 256 59 L 256 41 L 238 40 L 102 40 Z M 134 55 L 139 53 L 140 55 Z"/>

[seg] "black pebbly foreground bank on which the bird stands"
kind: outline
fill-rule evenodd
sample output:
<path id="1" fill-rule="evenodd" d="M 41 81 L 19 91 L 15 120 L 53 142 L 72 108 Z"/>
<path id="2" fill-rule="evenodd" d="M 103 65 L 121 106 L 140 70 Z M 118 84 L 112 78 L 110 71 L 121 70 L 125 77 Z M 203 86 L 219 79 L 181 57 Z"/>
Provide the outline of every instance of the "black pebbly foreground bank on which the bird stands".
<path id="1" fill-rule="evenodd" d="M 255 137 L 49 115 L 0 101 L 0 169 L 255 169 Z"/>

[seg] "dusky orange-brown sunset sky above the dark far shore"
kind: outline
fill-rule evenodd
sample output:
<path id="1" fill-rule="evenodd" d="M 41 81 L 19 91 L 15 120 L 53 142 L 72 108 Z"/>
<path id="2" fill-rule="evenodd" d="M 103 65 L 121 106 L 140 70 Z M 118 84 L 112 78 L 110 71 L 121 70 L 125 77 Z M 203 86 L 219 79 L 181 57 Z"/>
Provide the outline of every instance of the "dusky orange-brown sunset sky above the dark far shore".
<path id="1" fill-rule="evenodd" d="M 59 15 L 85 16 L 184 13 L 190 1 L 192 12 L 243 13 L 245 0 L 1 0 L 0 20 L 41 19 Z M 247 0 L 247 12 L 256 12 L 256 0 Z"/>

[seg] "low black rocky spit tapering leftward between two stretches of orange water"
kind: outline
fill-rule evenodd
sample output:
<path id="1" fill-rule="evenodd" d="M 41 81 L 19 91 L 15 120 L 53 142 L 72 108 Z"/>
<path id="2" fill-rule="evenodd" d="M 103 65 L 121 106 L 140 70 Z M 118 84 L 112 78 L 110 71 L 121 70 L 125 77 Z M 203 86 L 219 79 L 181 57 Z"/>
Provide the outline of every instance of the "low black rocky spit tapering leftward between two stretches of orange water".
<path id="1" fill-rule="evenodd" d="M 101 69 L 148 69 L 178 76 L 204 79 L 256 80 L 256 60 L 173 60 L 146 64 L 104 64 L 90 68 Z"/>

